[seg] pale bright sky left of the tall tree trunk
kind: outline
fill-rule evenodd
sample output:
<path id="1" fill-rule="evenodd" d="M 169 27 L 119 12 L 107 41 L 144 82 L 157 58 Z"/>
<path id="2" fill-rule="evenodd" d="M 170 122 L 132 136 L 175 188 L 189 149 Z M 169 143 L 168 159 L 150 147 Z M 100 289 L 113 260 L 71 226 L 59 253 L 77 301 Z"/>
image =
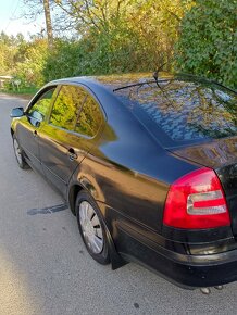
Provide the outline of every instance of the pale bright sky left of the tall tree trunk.
<path id="1" fill-rule="evenodd" d="M 14 36 L 22 33 L 27 38 L 28 34 L 36 34 L 45 28 L 43 17 L 32 23 L 20 18 L 24 10 L 23 0 L 0 0 L 0 32 Z"/>

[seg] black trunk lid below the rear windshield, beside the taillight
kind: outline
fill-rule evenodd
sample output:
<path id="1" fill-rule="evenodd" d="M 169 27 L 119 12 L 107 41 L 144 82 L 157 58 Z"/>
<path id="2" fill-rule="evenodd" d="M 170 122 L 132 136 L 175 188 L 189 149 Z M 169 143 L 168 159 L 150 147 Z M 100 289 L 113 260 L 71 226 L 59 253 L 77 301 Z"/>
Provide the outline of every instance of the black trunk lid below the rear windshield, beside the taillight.
<path id="1" fill-rule="evenodd" d="M 222 182 L 237 237 L 237 137 L 170 150 L 175 155 L 215 171 Z"/>

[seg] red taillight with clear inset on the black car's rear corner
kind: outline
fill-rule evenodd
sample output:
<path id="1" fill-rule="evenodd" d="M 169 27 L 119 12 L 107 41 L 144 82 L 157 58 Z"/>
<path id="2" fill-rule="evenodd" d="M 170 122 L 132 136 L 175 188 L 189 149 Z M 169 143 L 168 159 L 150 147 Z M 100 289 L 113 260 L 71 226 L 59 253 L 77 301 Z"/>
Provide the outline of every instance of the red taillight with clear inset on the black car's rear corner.
<path id="1" fill-rule="evenodd" d="M 190 229 L 230 225 L 225 196 L 214 171 L 200 168 L 171 186 L 163 223 Z"/>

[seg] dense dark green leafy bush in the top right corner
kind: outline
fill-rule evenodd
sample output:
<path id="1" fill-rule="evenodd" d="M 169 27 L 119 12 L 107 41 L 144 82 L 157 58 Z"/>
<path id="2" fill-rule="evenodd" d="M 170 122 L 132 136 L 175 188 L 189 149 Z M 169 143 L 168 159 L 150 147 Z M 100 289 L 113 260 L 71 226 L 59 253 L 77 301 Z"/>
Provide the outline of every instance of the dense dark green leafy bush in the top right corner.
<path id="1" fill-rule="evenodd" d="M 182 21 L 176 67 L 236 87 L 236 0 L 197 0 Z"/>

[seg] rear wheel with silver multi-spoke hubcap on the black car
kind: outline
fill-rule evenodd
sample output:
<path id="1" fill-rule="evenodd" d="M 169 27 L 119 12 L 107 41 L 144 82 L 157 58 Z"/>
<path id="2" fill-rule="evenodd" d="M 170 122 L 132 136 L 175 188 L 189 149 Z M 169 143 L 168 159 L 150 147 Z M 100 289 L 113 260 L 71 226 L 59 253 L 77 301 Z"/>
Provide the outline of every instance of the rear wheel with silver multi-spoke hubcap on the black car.
<path id="1" fill-rule="evenodd" d="M 102 265 L 110 263 L 104 224 L 98 205 L 86 191 L 76 198 L 76 217 L 79 232 L 89 254 Z"/>

